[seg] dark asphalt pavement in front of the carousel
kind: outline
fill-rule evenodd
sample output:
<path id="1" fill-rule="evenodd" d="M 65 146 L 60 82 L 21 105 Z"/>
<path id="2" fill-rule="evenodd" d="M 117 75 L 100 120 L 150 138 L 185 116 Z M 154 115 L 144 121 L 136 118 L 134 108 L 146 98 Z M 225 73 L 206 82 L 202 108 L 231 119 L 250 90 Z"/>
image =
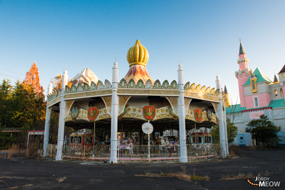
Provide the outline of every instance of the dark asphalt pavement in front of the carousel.
<path id="1" fill-rule="evenodd" d="M 54 161 L 23 157 L 0 159 L 0 189 L 285 189 L 285 150 L 249 151 L 231 159 L 180 162 Z M 137 176 L 146 173 L 186 173 L 207 176 L 208 180 L 186 181 L 178 177 Z M 252 173 L 280 181 L 280 187 L 258 187 L 246 178 L 221 180 L 227 174 Z"/>

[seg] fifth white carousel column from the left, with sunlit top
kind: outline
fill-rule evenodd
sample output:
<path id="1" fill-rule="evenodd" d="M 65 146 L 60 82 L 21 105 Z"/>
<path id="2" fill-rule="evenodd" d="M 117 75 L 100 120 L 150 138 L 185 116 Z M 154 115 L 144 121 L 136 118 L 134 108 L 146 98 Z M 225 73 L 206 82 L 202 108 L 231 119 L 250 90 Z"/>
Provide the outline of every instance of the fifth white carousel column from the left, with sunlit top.
<path id="1" fill-rule="evenodd" d="M 222 145 L 222 157 L 227 157 L 226 142 L 225 142 L 225 128 L 224 128 L 224 116 L 223 116 L 223 100 L 222 100 L 222 90 L 221 90 L 221 80 L 220 77 L 216 76 L 216 89 L 219 89 L 219 135 L 220 143 Z"/>

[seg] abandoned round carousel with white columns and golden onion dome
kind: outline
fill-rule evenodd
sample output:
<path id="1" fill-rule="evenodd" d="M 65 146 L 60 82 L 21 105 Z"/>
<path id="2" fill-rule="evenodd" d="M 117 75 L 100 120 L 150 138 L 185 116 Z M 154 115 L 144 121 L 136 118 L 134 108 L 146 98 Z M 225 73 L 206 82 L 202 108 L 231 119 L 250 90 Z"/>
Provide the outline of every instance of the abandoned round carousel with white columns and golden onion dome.
<path id="1" fill-rule="evenodd" d="M 187 162 L 197 156 L 198 148 L 194 147 L 197 144 L 205 145 L 201 153 L 205 158 L 207 155 L 225 157 L 228 152 L 225 95 L 219 76 L 216 89 L 190 82 L 184 84 L 184 71 L 179 64 L 177 81 L 154 81 L 146 70 L 148 59 L 148 51 L 137 40 L 127 52 L 130 69 L 123 79 L 118 78 L 119 65 L 115 62 L 111 82 L 99 80 L 85 68 L 71 79 L 71 85 L 67 85 L 67 71 L 62 76 L 61 89 L 52 89 L 50 84 L 44 156 L 50 115 L 56 111 L 60 113 L 56 160 Z M 148 134 L 142 130 L 146 122 L 152 125 L 150 146 Z M 208 129 L 213 125 L 219 125 L 221 144 L 211 143 Z M 66 139 L 65 127 L 75 131 Z M 150 149 L 148 154 L 147 149 Z"/>

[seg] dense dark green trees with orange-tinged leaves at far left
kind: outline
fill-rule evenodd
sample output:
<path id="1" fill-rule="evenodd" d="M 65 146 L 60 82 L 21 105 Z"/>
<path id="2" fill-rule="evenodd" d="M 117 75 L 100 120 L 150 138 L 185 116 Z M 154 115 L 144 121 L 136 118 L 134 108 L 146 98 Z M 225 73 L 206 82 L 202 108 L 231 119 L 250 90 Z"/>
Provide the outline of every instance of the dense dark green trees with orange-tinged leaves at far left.
<path id="1" fill-rule="evenodd" d="M 12 86 L 9 79 L 4 79 L 0 84 L 0 106 L 0 123 L 8 128 L 21 128 L 13 136 L 1 132 L 1 147 L 13 143 L 15 139 L 18 143 L 26 143 L 28 130 L 44 129 L 46 102 L 31 85 L 17 81 Z"/>

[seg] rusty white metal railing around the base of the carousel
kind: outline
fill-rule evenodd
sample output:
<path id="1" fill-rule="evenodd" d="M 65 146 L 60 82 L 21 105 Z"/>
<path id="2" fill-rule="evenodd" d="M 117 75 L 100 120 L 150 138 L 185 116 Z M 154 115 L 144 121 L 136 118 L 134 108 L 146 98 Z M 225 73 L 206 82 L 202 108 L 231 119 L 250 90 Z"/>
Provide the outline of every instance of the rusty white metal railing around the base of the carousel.
<path id="1" fill-rule="evenodd" d="M 47 155 L 48 149 L 47 146 Z M 163 161 L 179 160 L 180 145 L 119 145 L 117 151 L 118 161 Z M 187 144 L 188 159 L 218 158 L 221 157 L 220 144 Z M 56 148 L 52 156 L 55 157 Z M 77 160 L 110 160 L 110 145 L 63 145 L 63 159 Z"/>

